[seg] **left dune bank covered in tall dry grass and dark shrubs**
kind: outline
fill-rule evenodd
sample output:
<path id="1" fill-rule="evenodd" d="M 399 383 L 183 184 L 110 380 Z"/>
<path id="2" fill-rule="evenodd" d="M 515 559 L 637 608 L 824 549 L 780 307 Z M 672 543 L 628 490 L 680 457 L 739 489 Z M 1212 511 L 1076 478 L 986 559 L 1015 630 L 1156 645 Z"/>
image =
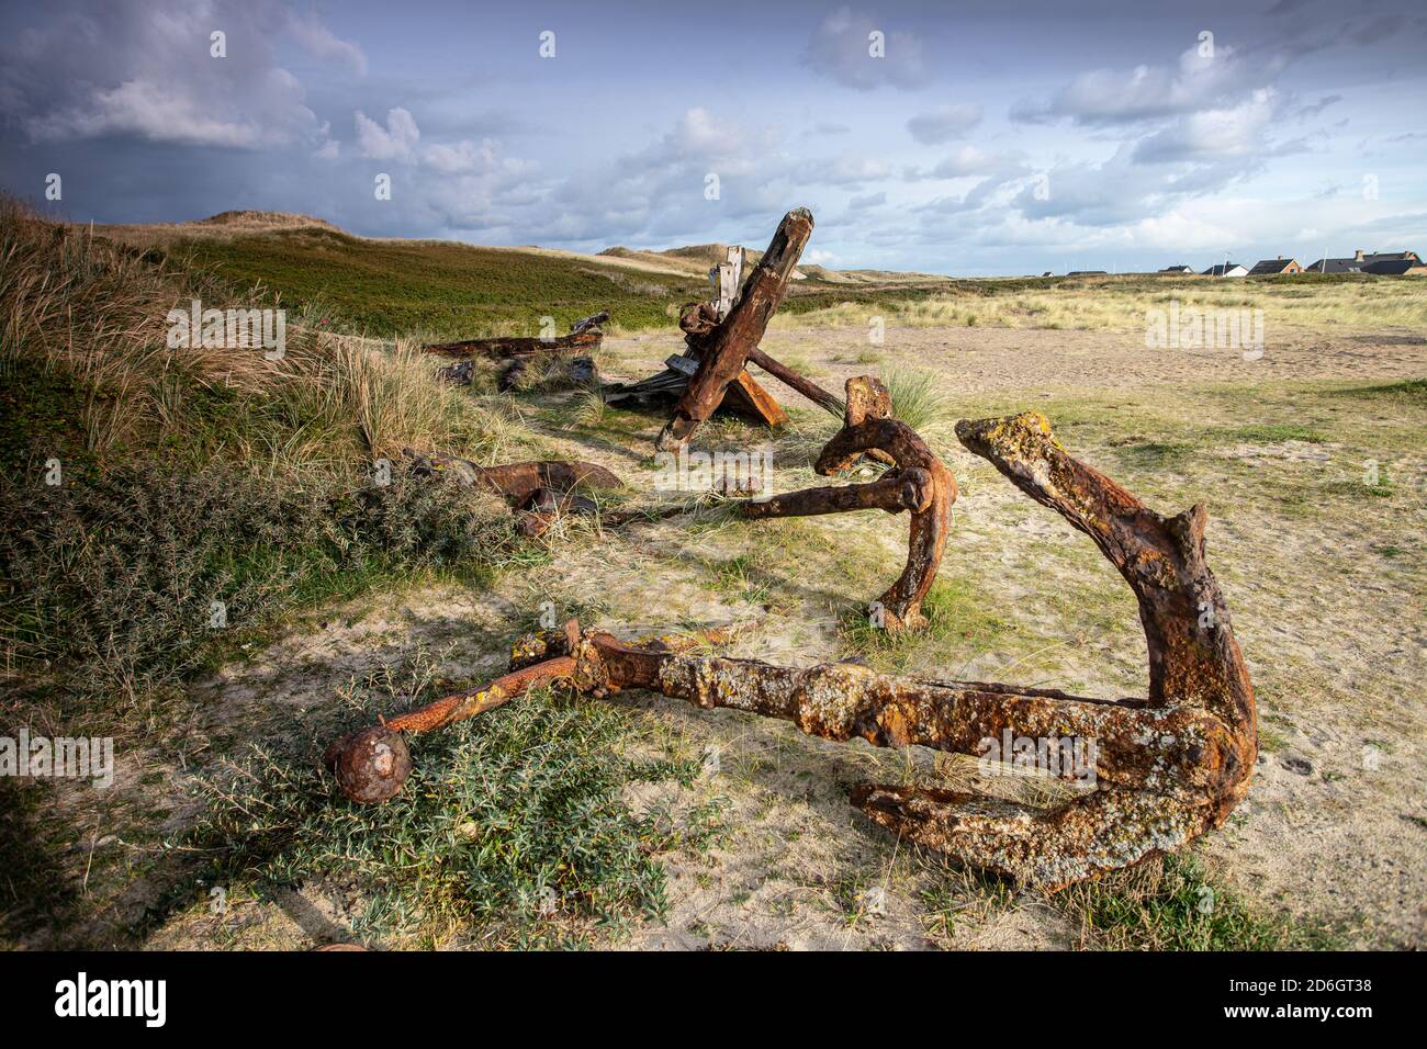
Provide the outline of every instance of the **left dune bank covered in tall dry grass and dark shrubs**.
<path id="1" fill-rule="evenodd" d="M 508 461 L 541 438 L 508 400 L 434 381 L 415 347 L 301 315 L 278 360 L 170 347 L 176 304 L 251 300 L 14 201 L 0 263 L 0 645 L 51 712 L 150 729 L 150 699 L 224 638 L 394 574 L 521 557 L 504 508 L 400 460 Z M 233 629 L 208 625 L 214 602 Z"/>

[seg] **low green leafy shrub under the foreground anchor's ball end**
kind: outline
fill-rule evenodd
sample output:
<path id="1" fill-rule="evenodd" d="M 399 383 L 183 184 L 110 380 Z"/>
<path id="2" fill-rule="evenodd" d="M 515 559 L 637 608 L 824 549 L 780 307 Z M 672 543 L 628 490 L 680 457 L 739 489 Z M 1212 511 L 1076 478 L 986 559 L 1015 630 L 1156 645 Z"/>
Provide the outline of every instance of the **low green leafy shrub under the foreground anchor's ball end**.
<path id="1" fill-rule="evenodd" d="M 405 674 L 354 682 L 350 724 L 435 698 L 432 674 L 418 657 Z M 699 764 L 631 762 L 619 756 L 626 734 L 608 704 L 537 691 L 417 738 L 411 781 L 385 805 L 341 796 L 320 771 L 321 739 L 305 752 L 258 749 L 208 781 L 184 843 L 213 858 L 210 883 L 315 881 L 355 895 L 362 939 L 579 945 L 596 925 L 661 918 L 656 856 L 701 852 L 721 831 L 716 806 L 629 809 L 624 785 L 692 782 Z"/>

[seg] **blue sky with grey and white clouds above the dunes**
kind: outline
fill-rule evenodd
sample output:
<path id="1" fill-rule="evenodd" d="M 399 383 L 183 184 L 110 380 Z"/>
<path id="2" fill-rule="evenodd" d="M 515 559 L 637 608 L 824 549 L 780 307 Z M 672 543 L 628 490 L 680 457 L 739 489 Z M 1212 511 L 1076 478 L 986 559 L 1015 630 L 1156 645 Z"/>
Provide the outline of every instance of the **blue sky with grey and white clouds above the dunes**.
<path id="1" fill-rule="evenodd" d="M 953 275 L 1309 264 L 1427 250 L 1424 53 L 1421 0 L 11 0 L 0 188 L 578 251 L 761 248 L 803 206 L 806 261 Z"/>

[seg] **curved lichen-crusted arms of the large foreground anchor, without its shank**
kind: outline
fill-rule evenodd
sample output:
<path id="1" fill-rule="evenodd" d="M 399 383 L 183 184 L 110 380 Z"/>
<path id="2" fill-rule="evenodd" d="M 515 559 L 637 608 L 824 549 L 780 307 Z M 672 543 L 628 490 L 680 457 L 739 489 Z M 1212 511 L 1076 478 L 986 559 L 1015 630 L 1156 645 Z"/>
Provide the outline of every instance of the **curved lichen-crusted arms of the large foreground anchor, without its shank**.
<path id="1" fill-rule="evenodd" d="M 1099 738 L 1104 785 L 1059 809 L 905 786 L 863 786 L 853 802 L 912 841 L 1047 888 L 1170 852 L 1220 826 L 1247 794 L 1259 728 L 1249 669 L 1204 561 L 1204 507 L 1156 514 L 1072 458 L 1039 412 L 962 421 L 956 435 L 1089 535 L 1124 577 L 1144 628 L 1149 696 L 1085 708 L 1082 731 Z M 1043 702 L 1052 716 L 1085 704 Z M 1116 719 L 1129 738 L 1113 731 Z"/>

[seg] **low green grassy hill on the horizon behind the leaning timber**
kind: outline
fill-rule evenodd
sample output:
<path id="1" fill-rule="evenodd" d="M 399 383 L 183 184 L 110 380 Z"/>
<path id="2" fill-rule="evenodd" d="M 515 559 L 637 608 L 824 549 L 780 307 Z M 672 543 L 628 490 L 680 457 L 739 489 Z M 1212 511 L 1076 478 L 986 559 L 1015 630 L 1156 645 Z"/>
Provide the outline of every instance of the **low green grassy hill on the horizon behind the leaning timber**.
<path id="1" fill-rule="evenodd" d="M 537 247 L 355 237 L 310 216 L 225 211 L 195 223 L 97 227 L 96 234 L 211 275 L 240 301 L 280 298 L 342 331 L 390 338 L 535 334 L 608 310 L 615 331 L 671 327 L 678 307 L 708 294 L 723 244 L 598 255 Z M 749 261 L 762 253 L 749 250 Z M 926 274 L 799 267 L 786 313 L 915 301 L 952 281 Z"/>

